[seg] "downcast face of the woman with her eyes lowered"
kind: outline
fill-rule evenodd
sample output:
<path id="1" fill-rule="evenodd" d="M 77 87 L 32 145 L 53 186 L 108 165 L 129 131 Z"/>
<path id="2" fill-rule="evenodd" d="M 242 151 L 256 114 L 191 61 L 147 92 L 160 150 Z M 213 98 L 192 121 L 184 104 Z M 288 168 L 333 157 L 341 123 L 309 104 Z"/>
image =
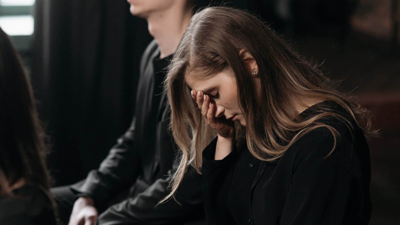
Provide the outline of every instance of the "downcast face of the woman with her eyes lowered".
<path id="1" fill-rule="evenodd" d="M 186 74 L 185 81 L 192 90 L 204 92 L 215 104 L 215 117 L 226 117 L 232 121 L 238 120 L 242 126 L 246 126 L 243 112 L 239 107 L 238 88 L 232 68 L 227 69 L 206 78 Z M 184 94 L 191 94 L 184 93 Z"/>

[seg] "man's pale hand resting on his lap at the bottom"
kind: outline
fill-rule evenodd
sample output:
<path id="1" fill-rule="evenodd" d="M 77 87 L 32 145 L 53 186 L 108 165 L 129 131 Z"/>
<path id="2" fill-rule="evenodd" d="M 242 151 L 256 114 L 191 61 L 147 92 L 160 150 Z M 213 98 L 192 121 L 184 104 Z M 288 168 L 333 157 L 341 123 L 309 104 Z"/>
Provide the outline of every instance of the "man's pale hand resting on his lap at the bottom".
<path id="1" fill-rule="evenodd" d="M 97 210 L 89 197 L 76 199 L 68 225 L 95 225 Z"/>

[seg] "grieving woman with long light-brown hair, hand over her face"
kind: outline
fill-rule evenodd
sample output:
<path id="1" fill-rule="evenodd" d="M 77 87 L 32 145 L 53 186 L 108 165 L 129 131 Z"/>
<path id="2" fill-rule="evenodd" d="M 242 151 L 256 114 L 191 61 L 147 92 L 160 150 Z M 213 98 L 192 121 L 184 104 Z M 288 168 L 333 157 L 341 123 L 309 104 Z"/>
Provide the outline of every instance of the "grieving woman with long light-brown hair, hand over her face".
<path id="1" fill-rule="evenodd" d="M 195 14 L 166 79 L 182 154 L 163 201 L 190 165 L 208 224 L 368 224 L 377 132 L 328 81 L 254 16 Z"/>

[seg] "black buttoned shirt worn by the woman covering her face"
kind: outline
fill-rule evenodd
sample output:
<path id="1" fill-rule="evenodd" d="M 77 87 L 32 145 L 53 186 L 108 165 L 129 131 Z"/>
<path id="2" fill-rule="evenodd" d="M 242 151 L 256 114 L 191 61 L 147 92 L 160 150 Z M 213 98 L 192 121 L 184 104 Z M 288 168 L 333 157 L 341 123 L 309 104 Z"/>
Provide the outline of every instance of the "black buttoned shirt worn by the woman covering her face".
<path id="1" fill-rule="evenodd" d="M 321 120 L 326 128 L 310 131 L 277 161 L 255 159 L 246 143 L 222 160 L 213 160 L 214 139 L 203 152 L 202 194 L 208 224 L 368 224 L 370 156 L 360 128 L 334 101 L 320 102 L 300 117 L 318 113 L 320 107 L 339 112 L 354 129 L 336 117 Z M 326 157 L 326 158 L 325 158 Z"/>

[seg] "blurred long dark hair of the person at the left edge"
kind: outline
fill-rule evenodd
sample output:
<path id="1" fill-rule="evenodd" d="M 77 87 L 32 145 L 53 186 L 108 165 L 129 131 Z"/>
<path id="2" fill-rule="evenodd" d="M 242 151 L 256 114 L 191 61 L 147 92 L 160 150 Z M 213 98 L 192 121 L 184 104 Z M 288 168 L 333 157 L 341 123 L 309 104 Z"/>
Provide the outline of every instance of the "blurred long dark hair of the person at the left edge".
<path id="1" fill-rule="evenodd" d="M 0 28 L 0 169 L 10 186 L 25 179 L 49 190 L 44 138 L 28 76 Z"/>

